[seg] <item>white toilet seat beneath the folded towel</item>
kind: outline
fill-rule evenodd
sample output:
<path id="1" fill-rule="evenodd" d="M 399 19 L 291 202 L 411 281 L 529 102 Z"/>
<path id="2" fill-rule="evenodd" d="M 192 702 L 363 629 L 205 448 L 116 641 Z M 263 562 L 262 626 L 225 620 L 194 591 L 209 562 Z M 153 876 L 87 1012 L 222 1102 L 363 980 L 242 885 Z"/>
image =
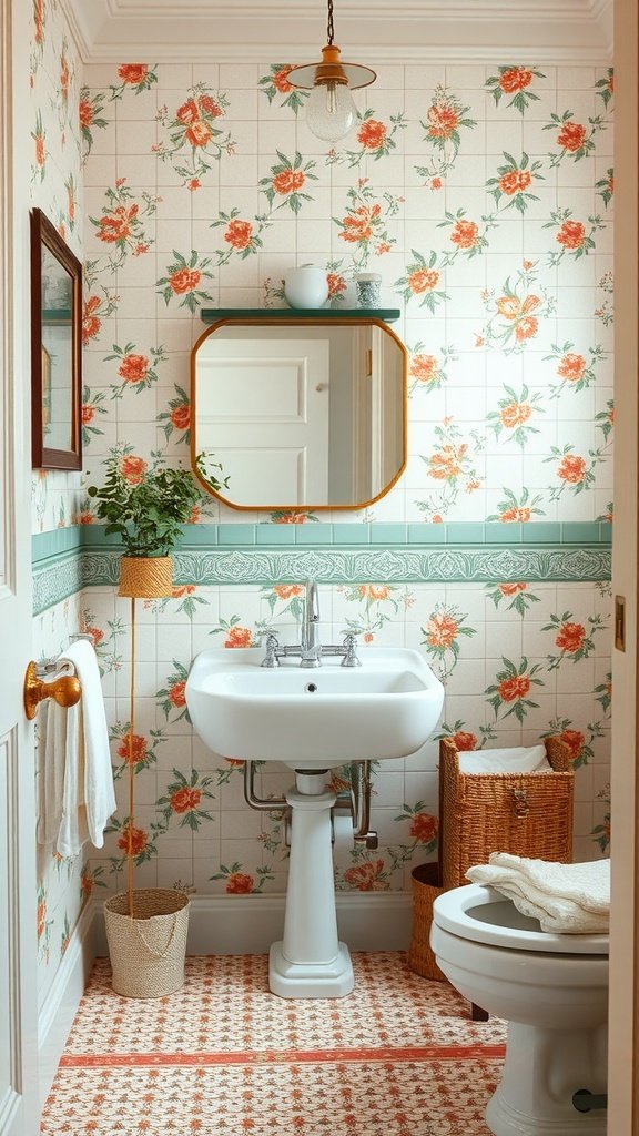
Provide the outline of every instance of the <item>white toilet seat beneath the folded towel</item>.
<path id="1" fill-rule="evenodd" d="M 556 954 L 608 954 L 608 935 L 559 935 L 541 930 L 512 900 L 483 884 L 442 892 L 433 903 L 433 922 L 475 943 Z"/>

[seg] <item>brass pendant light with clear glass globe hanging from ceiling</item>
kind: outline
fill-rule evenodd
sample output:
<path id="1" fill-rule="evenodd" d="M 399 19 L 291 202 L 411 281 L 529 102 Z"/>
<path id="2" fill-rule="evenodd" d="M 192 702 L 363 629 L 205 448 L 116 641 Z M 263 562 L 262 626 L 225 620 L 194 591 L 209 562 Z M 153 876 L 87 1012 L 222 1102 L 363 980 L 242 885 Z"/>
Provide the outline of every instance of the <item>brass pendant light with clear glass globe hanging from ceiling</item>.
<path id="1" fill-rule="evenodd" d="M 327 42 L 322 48 L 322 61 L 293 67 L 287 80 L 292 86 L 310 91 L 306 122 L 312 134 L 323 142 L 337 142 L 352 130 L 357 119 L 350 92 L 374 83 L 376 76 L 370 67 L 340 61 L 340 49 L 333 43 L 333 0 L 327 3 Z"/>

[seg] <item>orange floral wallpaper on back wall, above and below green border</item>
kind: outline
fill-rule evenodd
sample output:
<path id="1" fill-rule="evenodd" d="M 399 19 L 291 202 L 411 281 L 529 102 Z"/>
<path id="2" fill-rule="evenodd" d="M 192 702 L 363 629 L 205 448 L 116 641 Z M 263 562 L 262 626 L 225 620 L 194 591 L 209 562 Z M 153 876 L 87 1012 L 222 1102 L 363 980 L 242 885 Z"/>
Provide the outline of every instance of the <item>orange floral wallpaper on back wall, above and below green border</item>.
<path id="1" fill-rule="evenodd" d="M 613 75 L 603 64 L 496 60 L 380 66 L 354 134 L 326 148 L 304 122 L 292 61 L 121 62 L 84 70 L 80 97 L 85 296 L 85 484 L 114 457 L 131 482 L 189 463 L 189 365 L 206 307 L 283 306 L 296 264 L 322 265 L 329 302 L 354 306 L 356 270 L 382 275 L 409 351 L 409 458 L 365 510 L 191 520 L 594 521 L 612 519 Z M 89 498 L 44 527 L 94 524 Z M 52 521 L 52 524 L 51 524 Z M 130 609 L 85 588 L 82 629 L 103 677 L 119 811 L 85 888 L 122 886 L 133 829 L 140 886 L 199 893 L 285 887 L 281 816 L 243 802 L 241 761 L 193 734 L 193 654 L 299 634 L 301 583 L 202 586 L 139 604 L 127 815 Z M 57 610 L 57 609 L 55 609 Z M 340 850 L 337 886 L 403 891 L 437 854 L 437 738 L 460 749 L 558 733 L 575 769 L 575 854 L 609 840 L 611 594 L 606 584 L 334 584 L 322 634 L 421 650 L 446 687 L 424 751 L 375 770 L 375 852 Z M 345 771 L 334 775 L 342 784 Z M 290 775 L 260 770 L 259 792 Z M 43 917 L 43 936 L 47 917 Z"/>

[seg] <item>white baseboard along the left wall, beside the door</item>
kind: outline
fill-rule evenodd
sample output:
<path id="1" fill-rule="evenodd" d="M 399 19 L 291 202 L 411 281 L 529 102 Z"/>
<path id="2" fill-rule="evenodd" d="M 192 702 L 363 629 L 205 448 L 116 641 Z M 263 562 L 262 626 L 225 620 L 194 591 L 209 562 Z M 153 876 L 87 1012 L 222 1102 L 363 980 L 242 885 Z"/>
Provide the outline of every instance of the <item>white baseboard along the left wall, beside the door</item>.
<path id="1" fill-rule="evenodd" d="M 44 1104 L 96 959 L 94 905 L 88 903 L 38 1016 L 40 1103 Z"/>

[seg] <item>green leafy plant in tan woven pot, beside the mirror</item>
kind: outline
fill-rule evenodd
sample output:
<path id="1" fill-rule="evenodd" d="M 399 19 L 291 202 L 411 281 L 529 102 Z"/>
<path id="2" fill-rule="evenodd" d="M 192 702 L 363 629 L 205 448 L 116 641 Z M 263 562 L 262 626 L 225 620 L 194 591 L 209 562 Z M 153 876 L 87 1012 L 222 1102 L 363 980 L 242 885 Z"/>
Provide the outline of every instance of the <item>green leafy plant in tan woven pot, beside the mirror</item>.
<path id="1" fill-rule="evenodd" d="M 124 545 L 119 594 L 140 599 L 171 595 L 169 553 L 201 498 L 191 471 L 156 465 L 132 484 L 113 458 L 103 486 L 91 485 L 86 492 L 98 502 L 96 512 L 107 521 L 107 535 L 117 534 Z"/>

